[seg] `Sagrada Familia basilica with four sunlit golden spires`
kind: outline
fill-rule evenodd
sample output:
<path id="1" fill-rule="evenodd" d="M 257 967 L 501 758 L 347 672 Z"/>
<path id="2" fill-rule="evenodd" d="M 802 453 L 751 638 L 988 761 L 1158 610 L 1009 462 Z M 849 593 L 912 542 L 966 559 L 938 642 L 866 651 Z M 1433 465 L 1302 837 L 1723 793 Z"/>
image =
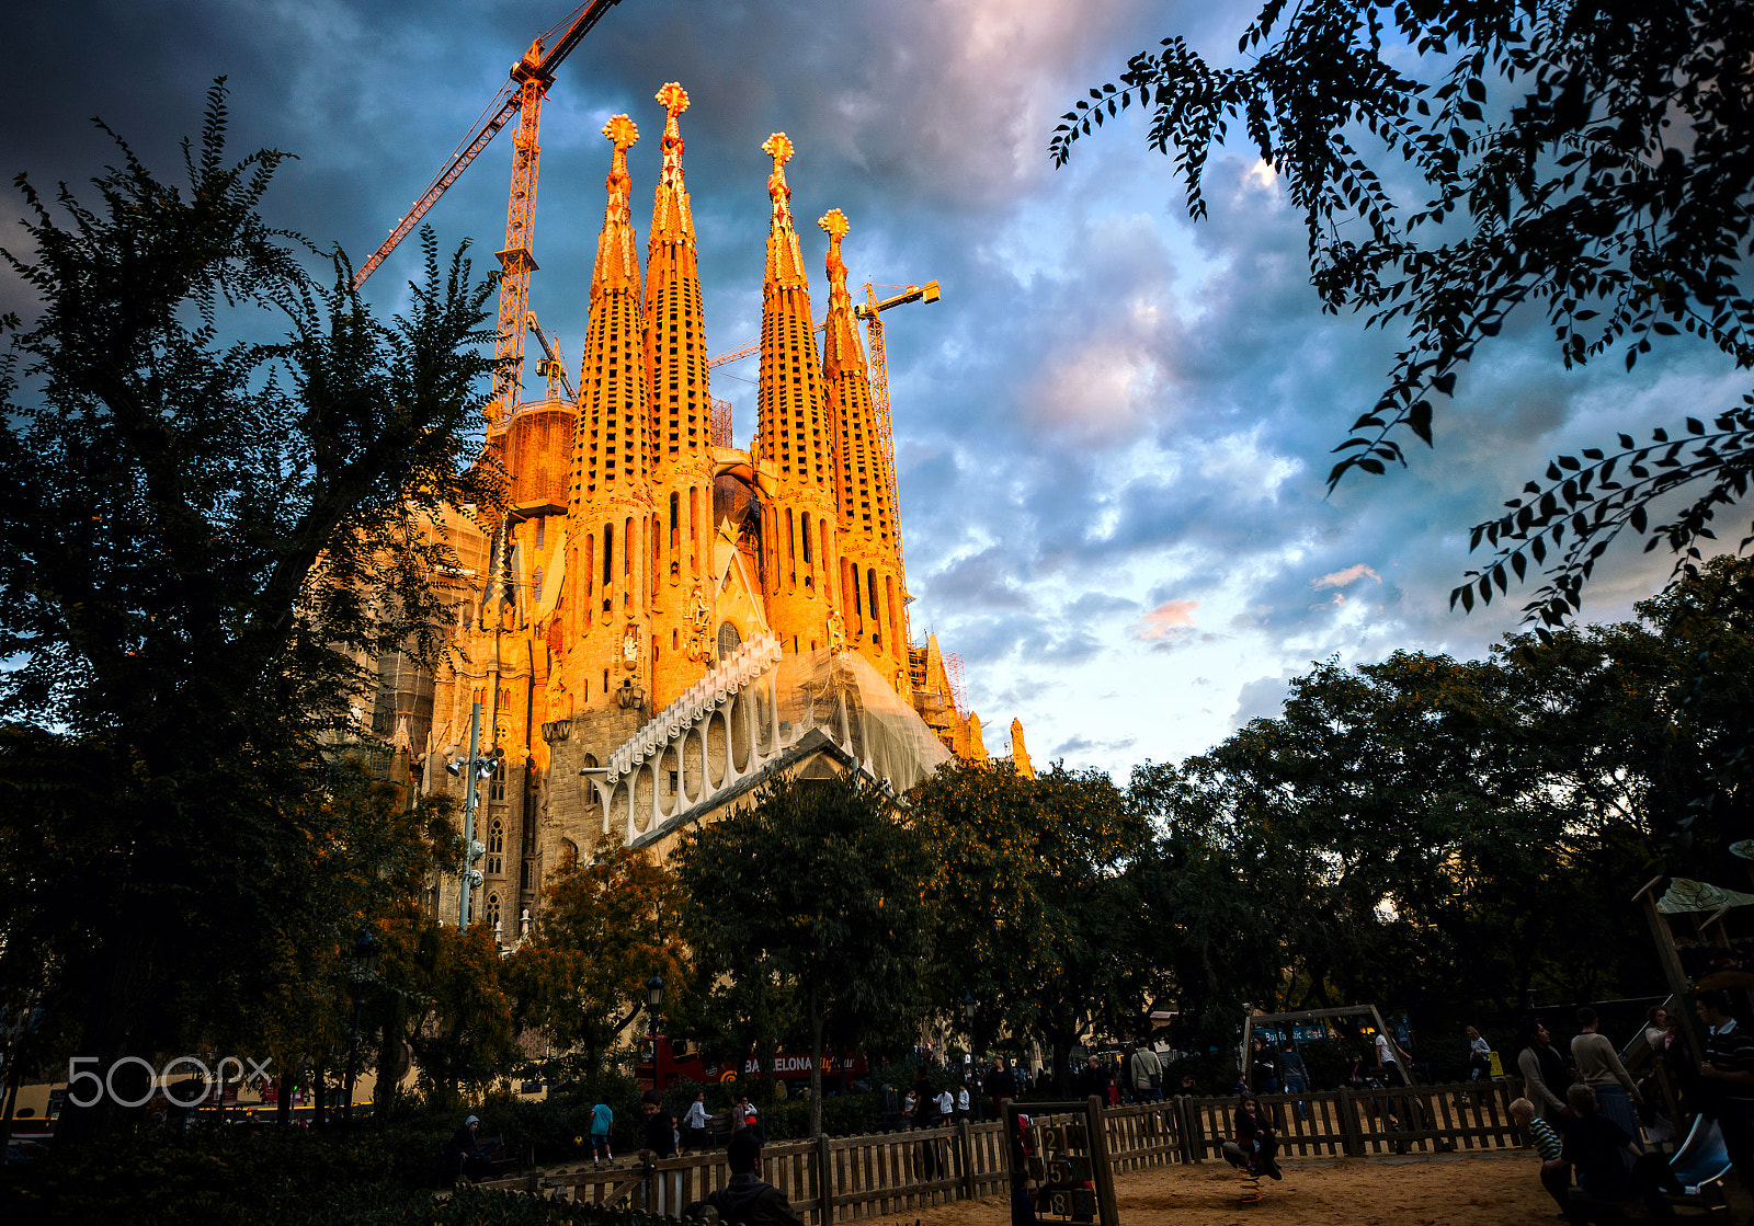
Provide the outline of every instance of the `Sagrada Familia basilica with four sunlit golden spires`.
<path id="1" fill-rule="evenodd" d="M 644 275 L 631 217 L 628 116 L 612 146 L 577 398 L 489 409 L 503 516 L 447 512 L 456 624 L 437 675 L 379 663 L 374 728 L 424 791 L 481 749 L 470 923 L 516 940 L 544 877 L 628 844 L 663 856 L 775 772 L 863 770 L 902 795 L 952 754 L 986 758 L 935 638 L 909 642 L 888 421 L 847 293 L 840 210 L 828 233 L 828 317 L 816 346 L 791 216 L 784 133 L 766 140 L 772 223 L 761 282 L 758 428 L 714 419 L 695 221 L 668 84 L 663 168 Z M 1012 758 L 1028 770 L 1023 731 Z M 465 772 L 467 773 L 467 772 Z M 454 877 L 430 907 L 456 923 Z"/>

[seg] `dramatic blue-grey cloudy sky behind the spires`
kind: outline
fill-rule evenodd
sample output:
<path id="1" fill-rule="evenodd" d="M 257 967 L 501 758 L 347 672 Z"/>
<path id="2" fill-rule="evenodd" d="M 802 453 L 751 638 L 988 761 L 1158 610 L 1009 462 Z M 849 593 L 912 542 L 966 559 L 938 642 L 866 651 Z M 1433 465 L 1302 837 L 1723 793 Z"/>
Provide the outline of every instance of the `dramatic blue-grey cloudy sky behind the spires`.
<path id="1" fill-rule="evenodd" d="M 567 4 L 12 5 L 0 170 L 77 186 L 112 156 L 88 123 L 102 116 L 170 172 L 225 74 L 235 147 L 300 158 L 272 217 L 358 261 Z M 1137 112 L 1066 170 L 1045 153 L 1058 114 L 1128 54 L 1184 33 L 1226 58 L 1252 9 L 623 0 L 544 109 L 531 307 L 574 361 L 609 161 L 598 128 L 626 110 L 645 137 L 630 158 L 644 232 L 652 93 L 672 79 L 693 98 L 686 165 L 714 351 L 758 331 L 759 146 L 775 130 L 798 149 L 789 179 L 812 261 L 826 239 L 809 223 L 838 207 L 856 282 L 944 286 L 940 303 L 886 316 L 914 630 L 961 652 L 995 751 L 1017 716 L 1038 763 L 1124 775 L 1273 712 L 1312 659 L 1480 654 L 1517 602 L 1447 610 L 1468 524 L 1558 447 L 1733 400 L 1729 372 L 1693 349 L 1659 351 L 1631 377 L 1565 374 L 1524 321 L 1468 374 L 1437 453 L 1324 496 L 1326 453 L 1373 398 L 1396 339 L 1317 312 L 1303 233 L 1272 175 L 1244 147 L 1221 156 L 1212 217 L 1191 225 Z M 507 132 L 430 214 L 446 244 L 472 237 L 491 260 L 509 168 Z M 370 296 L 395 307 L 410 272 L 393 260 Z M 32 312 L 12 279 L 0 309 Z M 752 377 L 754 363 L 716 372 L 740 440 Z M 1596 619 L 1624 616 L 1665 574 L 1635 549 L 1608 563 Z"/>

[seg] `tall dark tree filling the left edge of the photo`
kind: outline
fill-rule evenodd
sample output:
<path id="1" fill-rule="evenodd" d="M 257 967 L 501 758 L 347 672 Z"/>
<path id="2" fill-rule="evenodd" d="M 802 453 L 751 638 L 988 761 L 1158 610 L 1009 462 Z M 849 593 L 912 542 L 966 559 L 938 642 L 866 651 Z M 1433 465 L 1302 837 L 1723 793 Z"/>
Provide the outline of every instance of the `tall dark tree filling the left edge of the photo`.
<path id="1" fill-rule="evenodd" d="M 284 951 L 351 942 L 358 916 L 309 926 L 312 900 L 372 873 L 349 849 L 388 812 L 335 728 L 379 652 L 437 645 L 437 507 L 498 498 L 465 463 L 491 281 L 426 235 L 379 323 L 339 251 L 317 279 L 261 221 L 284 154 L 230 165 L 225 132 L 216 84 L 186 188 L 119 139 L 95 203 L 21 177 L 32 249 L 7 254 L 42 310 L 5 321 L 0 367 L 0 710 L 26 726 L 0 823 L 40 851 L 18 914 L 58 930 L 5 987 L 105 1065 L 249 1009 Z M 237 339 L 275 319 L 282 340 Z"/>

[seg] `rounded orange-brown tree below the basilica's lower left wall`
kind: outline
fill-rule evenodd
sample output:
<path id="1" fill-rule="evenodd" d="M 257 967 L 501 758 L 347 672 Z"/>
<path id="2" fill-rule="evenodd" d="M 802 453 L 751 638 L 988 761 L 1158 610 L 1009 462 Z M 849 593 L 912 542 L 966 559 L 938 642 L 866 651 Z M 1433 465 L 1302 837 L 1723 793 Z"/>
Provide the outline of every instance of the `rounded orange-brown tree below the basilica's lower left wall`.
<path id="1" fill-rule="evenodd" d="M 670 993 L 689 979 L 675 873 L 617 847 L 563 868 L 542 893 L 535 930 L 507 968 L 517 1021 L 596 1066 L 645 1007 L 652 973 Z M 665 1005 L 684 1007 L 670 996 Z"/>

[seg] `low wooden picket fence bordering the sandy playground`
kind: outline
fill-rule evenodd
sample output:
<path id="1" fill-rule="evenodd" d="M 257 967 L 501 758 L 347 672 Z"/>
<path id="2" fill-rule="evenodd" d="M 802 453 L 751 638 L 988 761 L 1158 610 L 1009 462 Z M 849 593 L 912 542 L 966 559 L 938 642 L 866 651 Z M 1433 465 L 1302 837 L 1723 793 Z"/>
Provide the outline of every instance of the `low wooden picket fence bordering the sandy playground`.
<path id="1" fill-rule="evenodd" d="M 1487 1151 L 1526 1144 L 1510 1119 L 1515 1082 L 1338 1089 L 1261 1094 L 1279 1130 L 1282 1158 L 1368 1158 L 1405 1147 Z M 1024 1114 L 1028 1103 L 1019 1105 Z M 1217 1158 L 1231 1137 L 1235 1098 L 1172 1098 L 1102 1112 L 1107 1159 L 1116 1173 Z M 1077 1126 L 1066 1116 L 1044 1126 Z M 810 1226 L 907 1214 L 952 1200 L 1003 1194 L 1010 1172 L 1003 1124 L 958 1123 L 909 1133 L 774 1142 L 761 1149 L 763 1179 Z M 1219 1159 L 1223 1161 L 1223 1159 Z M 561 1168 L 488 1184 L 574 1201 L 677 1215 L 730 1182 L 724 1151 L 691 1152 L 633 1166 Z"/>

